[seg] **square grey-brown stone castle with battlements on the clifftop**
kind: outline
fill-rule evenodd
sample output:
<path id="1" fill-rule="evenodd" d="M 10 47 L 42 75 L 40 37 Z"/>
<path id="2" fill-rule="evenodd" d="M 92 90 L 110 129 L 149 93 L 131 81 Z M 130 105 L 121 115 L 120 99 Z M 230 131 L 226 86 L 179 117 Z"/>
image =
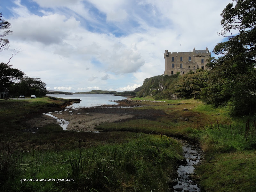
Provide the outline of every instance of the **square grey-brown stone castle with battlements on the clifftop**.
<path id="1" fill-rule="evenodd" d="M 209 70 L 205 64 L 206 60 L 211 57 L 208 48 L 204 50 L 196 50 L 193 52 L 168 52 L 165 50 L 165 71 L 164 75 L 174 75 L 180 72 L 180 75 L 188 73 L 190 70 L 196 73 L 201 68 Z"/>

